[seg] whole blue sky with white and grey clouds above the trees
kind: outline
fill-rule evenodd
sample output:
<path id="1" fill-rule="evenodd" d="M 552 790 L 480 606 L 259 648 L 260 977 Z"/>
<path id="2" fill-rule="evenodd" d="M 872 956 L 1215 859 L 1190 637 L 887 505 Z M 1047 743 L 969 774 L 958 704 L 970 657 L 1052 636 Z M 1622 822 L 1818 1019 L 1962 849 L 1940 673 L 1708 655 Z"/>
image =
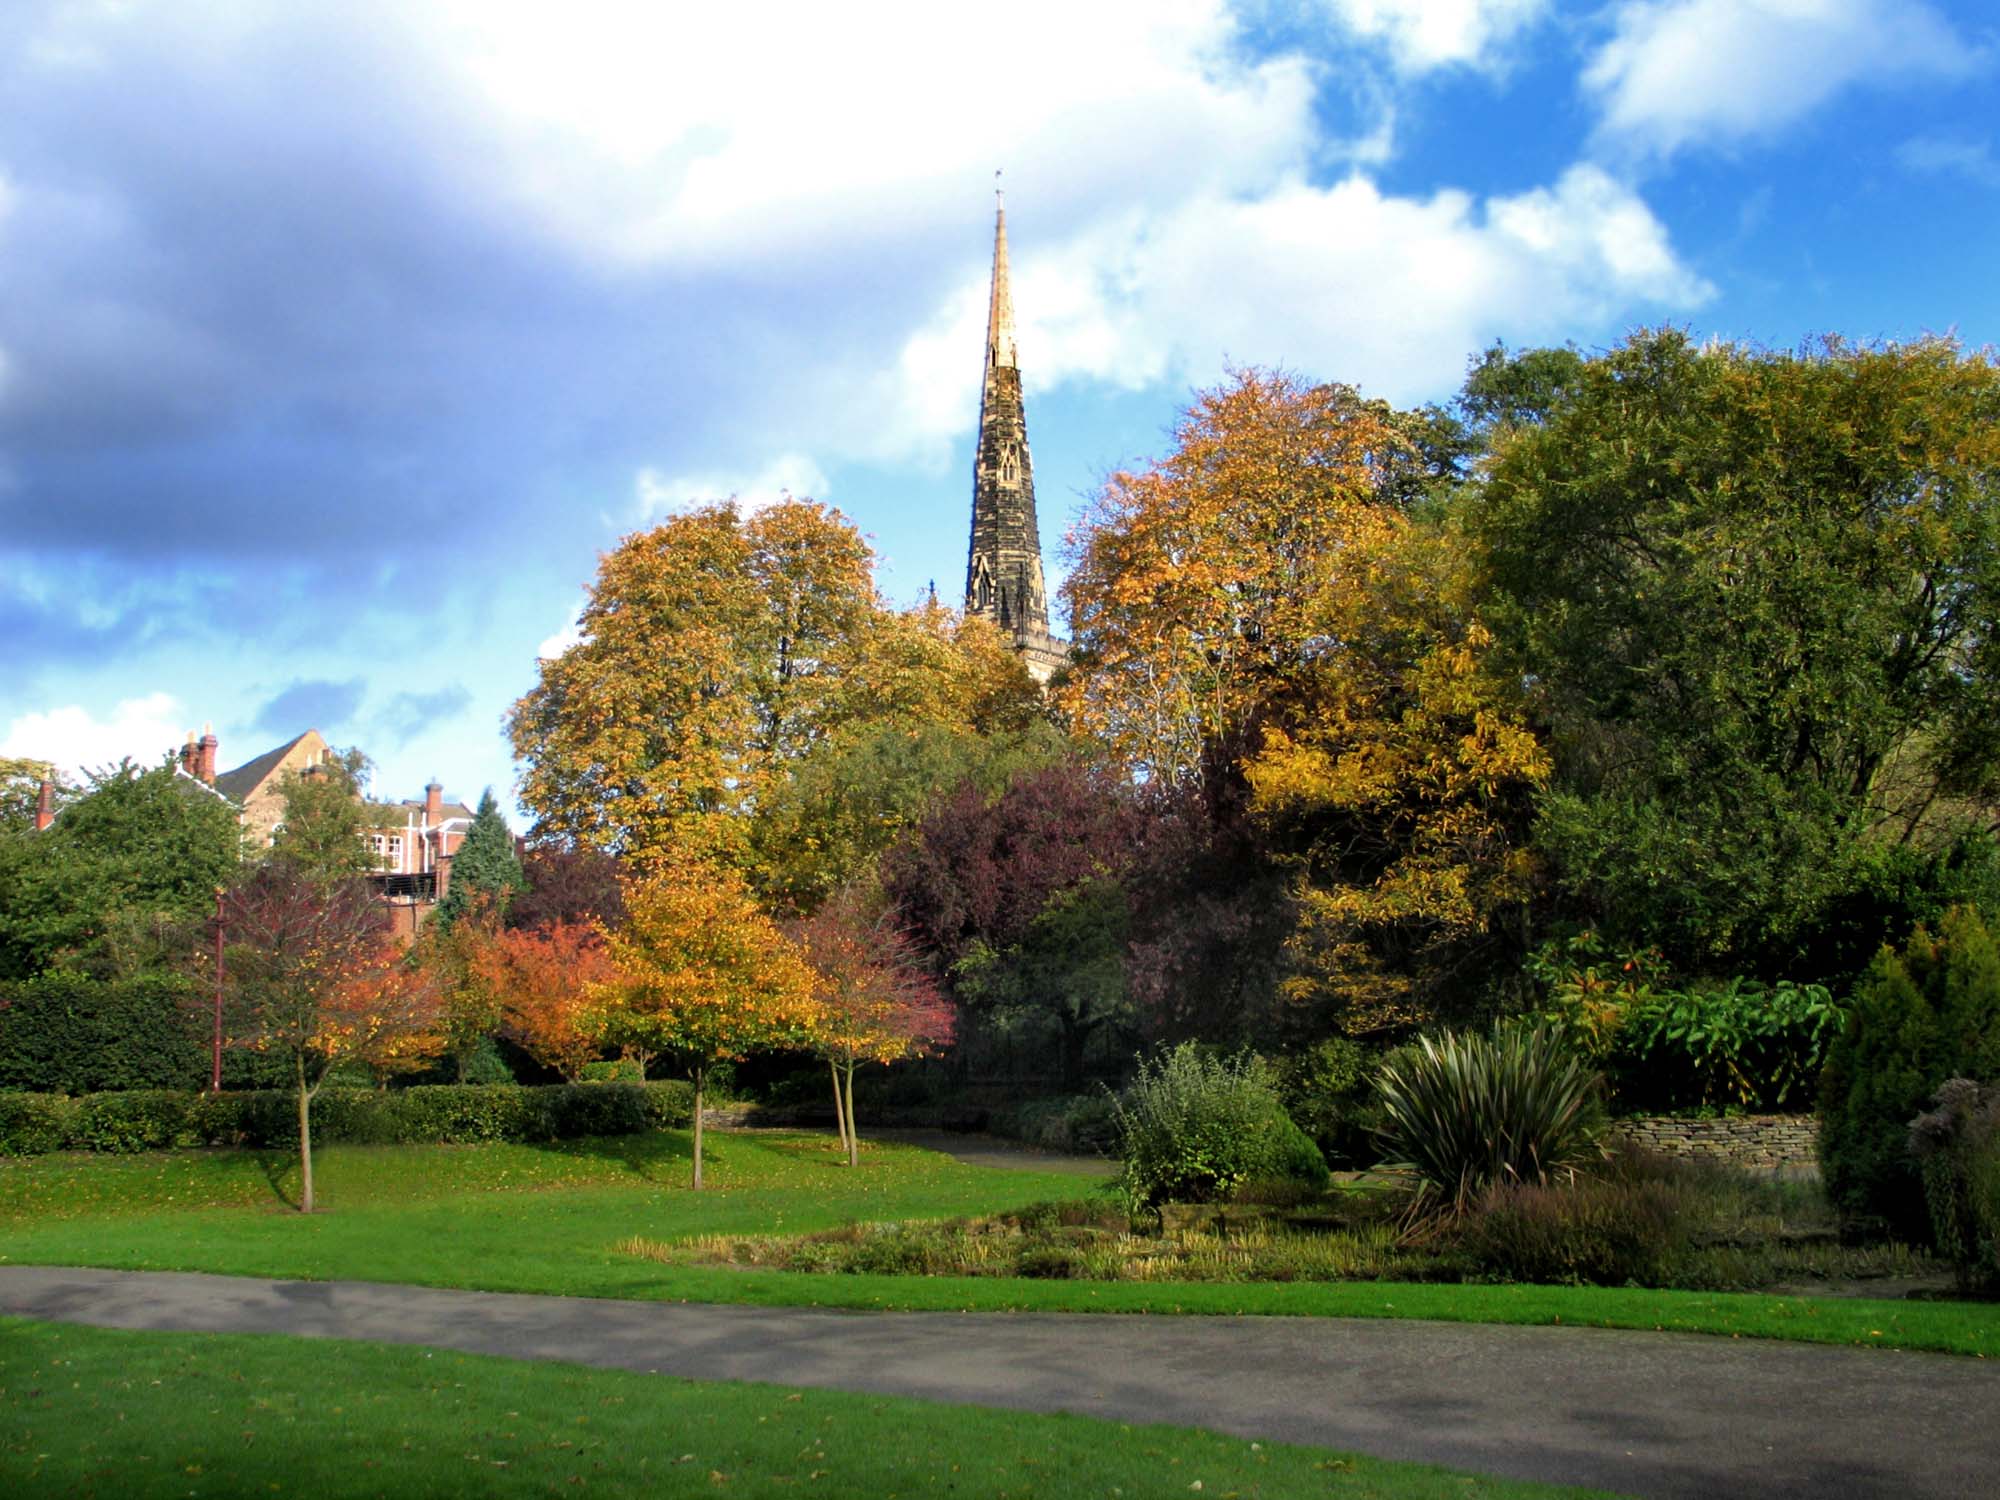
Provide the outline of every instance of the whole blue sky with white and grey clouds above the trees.
<path id="1" fill-rule="evenodd" d="M 954 598 L 998 166 L 1052 572 L 1232 364 L 2000 340 L 1980 0 L 10 0 L 0 100 L 0 754 L 70 766 L 506 798 L 596 556 L 702 498 Z"/>

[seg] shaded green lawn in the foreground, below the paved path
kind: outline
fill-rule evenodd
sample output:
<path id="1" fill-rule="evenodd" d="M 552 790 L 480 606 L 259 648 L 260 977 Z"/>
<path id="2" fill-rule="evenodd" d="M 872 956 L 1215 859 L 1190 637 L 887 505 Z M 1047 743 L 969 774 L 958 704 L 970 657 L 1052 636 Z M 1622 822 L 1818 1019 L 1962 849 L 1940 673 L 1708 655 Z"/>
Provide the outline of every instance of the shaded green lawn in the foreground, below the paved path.
<path id="1" fill-rule="evenodd" d="M 32 1496 L 1582 1496 L 1418 1464 L 448 1350 L 0 1320 Z"/>

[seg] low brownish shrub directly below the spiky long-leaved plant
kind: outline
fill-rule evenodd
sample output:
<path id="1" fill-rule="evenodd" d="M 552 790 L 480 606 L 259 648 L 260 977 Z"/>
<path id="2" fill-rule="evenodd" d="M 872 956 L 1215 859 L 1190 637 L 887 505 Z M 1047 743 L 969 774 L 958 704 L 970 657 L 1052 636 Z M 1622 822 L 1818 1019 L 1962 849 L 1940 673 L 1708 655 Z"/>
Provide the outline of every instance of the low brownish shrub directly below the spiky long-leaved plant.
<path id="1" fill-rule="evenodd" d="M 1460 1248 L 1508 1282 L 1658 1286 L 1688 1248 L 1692 1204 L 1670 1182 L 1496 1182 L 1456 1226 Z"/>

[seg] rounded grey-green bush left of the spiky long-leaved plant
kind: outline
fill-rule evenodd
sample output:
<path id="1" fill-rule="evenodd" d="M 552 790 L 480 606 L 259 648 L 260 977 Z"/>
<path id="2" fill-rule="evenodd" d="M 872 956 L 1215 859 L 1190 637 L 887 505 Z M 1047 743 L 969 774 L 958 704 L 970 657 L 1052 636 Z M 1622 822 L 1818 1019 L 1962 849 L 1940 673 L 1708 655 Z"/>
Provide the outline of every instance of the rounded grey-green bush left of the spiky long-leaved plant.
<path id="1" fill-rule="evenodd" d="M 1284 1112 L 1258 1056 L 1216 1058 L 1182 1042 L 1142 1058 L 1116 1120 L 1124 1184 L 1144 1208 L 1212 1202 L 1250 1178 L 1326 1180 L 1326 1162 Z"/>

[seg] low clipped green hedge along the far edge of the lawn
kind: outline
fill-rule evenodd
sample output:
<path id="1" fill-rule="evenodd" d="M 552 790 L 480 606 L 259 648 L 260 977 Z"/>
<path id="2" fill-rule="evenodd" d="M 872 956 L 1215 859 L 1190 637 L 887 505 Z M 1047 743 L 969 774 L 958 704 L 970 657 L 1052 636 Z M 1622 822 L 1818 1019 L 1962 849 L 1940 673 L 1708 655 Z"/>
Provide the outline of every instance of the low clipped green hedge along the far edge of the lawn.
<path id="1" fill-rule="evenodd" d="M 694 1090 L 682 1082 L 322 1088 L 312 1100 L 312 1140 L 358 1146 L 572 1140 L 636 1136 L 692 1118 Z M 78 1098 L 0 1092 L 0 1156 L 296 1144 L 298 1094 L 282 1088 L 240 1094 L 144 1088 Z"/>

